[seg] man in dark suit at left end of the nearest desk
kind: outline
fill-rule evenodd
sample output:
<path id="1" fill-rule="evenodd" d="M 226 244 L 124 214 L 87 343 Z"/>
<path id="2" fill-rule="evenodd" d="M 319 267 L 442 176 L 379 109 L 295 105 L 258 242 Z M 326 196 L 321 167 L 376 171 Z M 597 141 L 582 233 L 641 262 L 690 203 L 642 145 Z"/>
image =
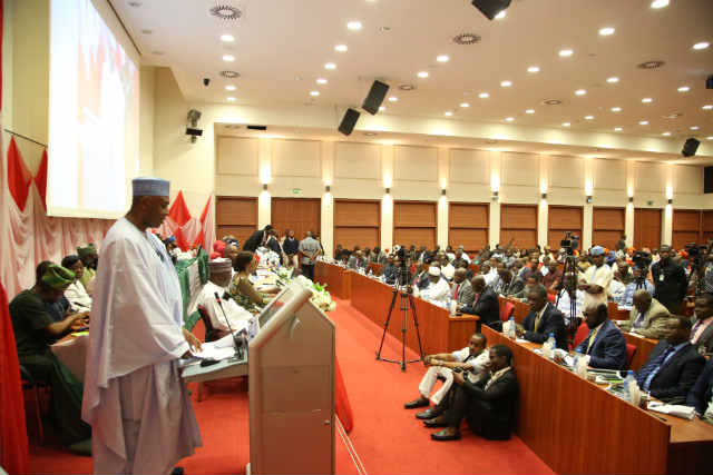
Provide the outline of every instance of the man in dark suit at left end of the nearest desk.
<path id="1" fill-rule="evenodd" d="M 517 337 L 528 342 L 545 343 L 551 333 L 555 334 L 557 348 L 567 349 L 565 316 L 547 300 L 547 289 L 537 285 L 530 290 L 527 300 L 530 304 L 530 311 L 522 320 L 522 325 L 516 325 Z"/>

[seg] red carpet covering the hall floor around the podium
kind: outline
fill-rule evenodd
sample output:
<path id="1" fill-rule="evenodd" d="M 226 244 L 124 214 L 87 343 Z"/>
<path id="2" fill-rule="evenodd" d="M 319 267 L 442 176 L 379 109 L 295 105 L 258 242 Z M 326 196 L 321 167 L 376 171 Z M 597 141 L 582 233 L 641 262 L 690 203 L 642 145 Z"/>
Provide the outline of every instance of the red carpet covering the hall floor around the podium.
<path id="1" fill-rule="evenodd" d="M 403 409 L 404 402 L 418 396 L 423 366 L 411 364 L 402 373 L 399 365 L 377 362 L 382 328 L 349 301 L 335 301 L 336 310 L 329 316 L 336 325 L 336 352 L 354 415 L 354 428 L 349 436 L 367 473 L 551 473 L 517 437 L 489 442 L 466 428 L 461 441 L 432 442 L 432 429 L 413 417 L 414 410 Z M 400 353 L 400 342 L 387 335 L 382 356 L 398 359 Z M 407 357 L 413 359 L 417 355 L 407 348 Z M 194 399 L 194 408 L 204 447 L 180 462 L 186 473 L 245 473 L 250 443 L 247 393 L 242 390 L 242 383 L 212 384 L 203 402 Z M 31 428 L 33 424 L 30 418 Z M 91 473 L 89 457 L 36 444 L 37 438 L 32 437 L 31 473 Z M 339 431 L 335 446 L 336 472 L 358 474 L 355 458 Z"/>

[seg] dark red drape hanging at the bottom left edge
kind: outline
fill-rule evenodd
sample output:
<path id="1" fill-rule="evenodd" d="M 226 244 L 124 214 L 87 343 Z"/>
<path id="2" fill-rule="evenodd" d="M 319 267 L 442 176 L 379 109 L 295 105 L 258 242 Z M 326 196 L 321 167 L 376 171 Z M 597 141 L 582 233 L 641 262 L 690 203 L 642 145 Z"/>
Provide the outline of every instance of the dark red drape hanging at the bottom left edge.
<path id="1" fill-rule="evenodd" d="M 0 284 L 0 465 L 11 474 L 28 473 L 29 449 L 20 363 L 10 321 L 8 296 Z"/>

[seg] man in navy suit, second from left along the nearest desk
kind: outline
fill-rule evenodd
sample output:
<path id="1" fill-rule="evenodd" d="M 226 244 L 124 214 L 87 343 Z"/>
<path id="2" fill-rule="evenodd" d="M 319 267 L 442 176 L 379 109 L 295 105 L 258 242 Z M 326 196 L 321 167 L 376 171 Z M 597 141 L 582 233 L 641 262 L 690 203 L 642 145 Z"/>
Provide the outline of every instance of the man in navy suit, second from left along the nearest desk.
<path id="1" fill-rule="evenodd" d="M 586 355 L 587 365 L 593 368 L 624 369 L 626 366 L 626 339 L 609 320 L 606 304 L 585 307 L 585 323 L 589 335 L 577 349 Z"/>

